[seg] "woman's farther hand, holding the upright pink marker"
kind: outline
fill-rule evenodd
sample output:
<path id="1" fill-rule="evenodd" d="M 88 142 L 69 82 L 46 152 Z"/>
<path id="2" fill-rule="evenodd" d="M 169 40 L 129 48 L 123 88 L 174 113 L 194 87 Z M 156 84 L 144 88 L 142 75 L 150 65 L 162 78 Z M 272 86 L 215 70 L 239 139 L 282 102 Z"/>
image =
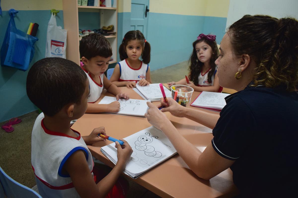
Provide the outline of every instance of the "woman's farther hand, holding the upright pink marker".
<path id="1" fill-rule="evenodd" d="M 161 98 L 160 99 L 161 104 L 157 105 L 157 108 L 164 107 L 164 108 L 161 109 L 162 112 L 167 112 L 168 111 L 176 117 L 184 117 L 182 115 L 182 111 L 186 107 L 181 106 L 173 98 L 167 98 L 167 101 L 168 101 L 168 104 L 166 102 L 164 102 L 164 98 Z"/>

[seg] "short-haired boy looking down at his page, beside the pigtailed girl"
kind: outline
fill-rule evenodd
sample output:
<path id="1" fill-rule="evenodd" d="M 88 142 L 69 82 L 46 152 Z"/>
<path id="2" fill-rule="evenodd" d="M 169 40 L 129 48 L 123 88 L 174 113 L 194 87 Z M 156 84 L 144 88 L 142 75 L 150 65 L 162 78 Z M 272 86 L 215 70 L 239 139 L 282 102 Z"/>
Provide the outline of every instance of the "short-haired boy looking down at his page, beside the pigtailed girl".
<path id="1" fill-rule="evenodd" d="M 118 101 L 110 104 L 94 104 L 94 102 L 99 99 L 103 88 L 107 89 L 111 94 L 114 94 L 117 100 L 119 98 L 129 99 L 128 94 L 123 94 L 104 74 L 108 69 L 112 56 L 110 42 L 101 34 L 89 34 L 83 37 L 80 42 L 80 55 L 84 64 L 82 69 L 85 71 L 90 85 L 88 108 L 86 112 L 118 112 L 120 109 Z"/>

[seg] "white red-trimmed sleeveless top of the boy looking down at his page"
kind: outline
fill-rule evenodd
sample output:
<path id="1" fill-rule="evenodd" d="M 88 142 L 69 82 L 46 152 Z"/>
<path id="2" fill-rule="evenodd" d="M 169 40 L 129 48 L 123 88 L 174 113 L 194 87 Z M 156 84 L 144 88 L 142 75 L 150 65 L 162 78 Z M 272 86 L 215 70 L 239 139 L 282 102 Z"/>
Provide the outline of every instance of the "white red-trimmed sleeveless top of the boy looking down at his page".
<path id="1" fill-rule="evenodd" d="M 101 85 L 100 85 L 100 84 L 98 84 L 97 82 L 95 82 L 93 80 L 93 78 L 91 77 L 91 74 L 88 73 L 86 71 L 86 69 L 84 69 L 83 67 L 82 67 L 82 69 L 86 73 L 86 75 L 88 77 L 88 80 L 89 80 L 90 94 L 89 94 L 88 102 L 89 103 L 94 103 L 100 98 L 101 92 L 103 92 L 103 77 L 104 77 L 104 74 L 99 76 L 100 82 L 101 82 Z"/>

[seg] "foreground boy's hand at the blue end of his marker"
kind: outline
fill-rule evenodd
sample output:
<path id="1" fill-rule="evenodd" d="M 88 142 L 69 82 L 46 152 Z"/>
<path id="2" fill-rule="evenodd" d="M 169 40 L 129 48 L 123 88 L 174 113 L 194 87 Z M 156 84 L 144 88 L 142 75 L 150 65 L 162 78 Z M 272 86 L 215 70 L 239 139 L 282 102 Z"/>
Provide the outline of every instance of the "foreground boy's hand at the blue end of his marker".
<path id="1" fill-rule="evenodd" d="M 117 148 L 117 164 L 119 163 L 120 165 L 123 166 L 123 169 L 125 168 L 126 162 L 130 159 L 132 149 L 131 146 L 125 141 L 120 139 L 121 141 L 124 142 L 123 145 L 120 145 L 119 142 L 115 142 L 115 148 Z"/>

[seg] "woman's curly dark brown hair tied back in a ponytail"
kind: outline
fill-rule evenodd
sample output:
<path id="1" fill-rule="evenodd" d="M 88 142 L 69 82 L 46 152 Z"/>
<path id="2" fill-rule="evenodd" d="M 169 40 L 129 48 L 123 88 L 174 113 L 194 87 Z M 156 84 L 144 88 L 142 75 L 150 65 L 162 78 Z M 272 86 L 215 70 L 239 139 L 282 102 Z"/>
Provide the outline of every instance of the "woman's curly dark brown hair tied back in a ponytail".
<path id="1" fill-rule="evenodd" d="M 298 85 L 298 21 L 267 15 L 245 15 L 228 31 L 237 56 L 248 54 L 257 64 L 251 86 Z"/>

